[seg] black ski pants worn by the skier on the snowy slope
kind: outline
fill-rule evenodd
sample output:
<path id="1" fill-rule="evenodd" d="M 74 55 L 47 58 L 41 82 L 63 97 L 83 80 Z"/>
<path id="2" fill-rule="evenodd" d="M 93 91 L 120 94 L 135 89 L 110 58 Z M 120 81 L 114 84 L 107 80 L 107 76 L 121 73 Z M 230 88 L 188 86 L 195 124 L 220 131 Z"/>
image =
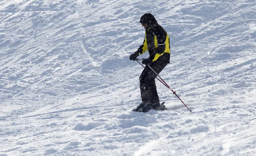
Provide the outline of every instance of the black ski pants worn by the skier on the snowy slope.
<path id="1" fill-rule="evenodd" d="M 167 65 L 167 63 L 160 58 L 149 64 L 149 66 L 151 66 L 151 68 L 154 69 L 157 74 L 159 74 Z M 148 66 L 145 66 L 140 75 L 140 94 L 143 102 L 159 102 L 157 87 L 155 84 L 156 77 L 157 75 Z"/>

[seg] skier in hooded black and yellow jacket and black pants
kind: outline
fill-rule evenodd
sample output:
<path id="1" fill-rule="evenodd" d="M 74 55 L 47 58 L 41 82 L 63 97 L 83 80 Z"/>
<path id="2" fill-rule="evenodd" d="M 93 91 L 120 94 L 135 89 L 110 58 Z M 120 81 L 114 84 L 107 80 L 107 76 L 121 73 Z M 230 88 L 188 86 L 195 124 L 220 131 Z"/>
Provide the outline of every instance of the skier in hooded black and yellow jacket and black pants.
<path id="1" fill-rule="evenodd" d="M 142 103 L 133 111 L 148 112 L 151 109 L 160 109 L 155 84 L 157 75 L 148 66 L 151 66 L 159 74 L 170 63 L 170 39 L 168 33 L 157 23 L 152 14 L 143 14 L 140 17 L 140 23 L 145 28 L 145 38 L 143 44 L 129 58 L 135 61 L 139 55 L 146 51 L 149 52 L 149 58 L 142 61 L 142 64 L 145 64 L 145 68 L 140 75 Z"/>

